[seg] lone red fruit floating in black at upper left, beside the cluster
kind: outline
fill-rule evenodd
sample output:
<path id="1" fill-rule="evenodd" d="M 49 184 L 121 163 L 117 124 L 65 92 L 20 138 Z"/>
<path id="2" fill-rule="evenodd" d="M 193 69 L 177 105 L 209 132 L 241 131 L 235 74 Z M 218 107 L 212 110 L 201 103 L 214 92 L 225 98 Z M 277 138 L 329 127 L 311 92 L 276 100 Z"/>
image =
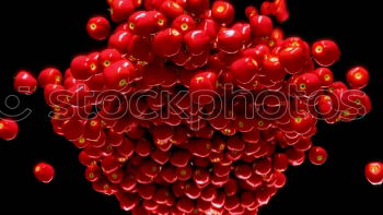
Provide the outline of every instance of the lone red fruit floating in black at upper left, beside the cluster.
<path id="1" fill-rule="evenodd" d="M 103 16 L 94 16 L 88 21 L 86 31 L 93 39 L 103 40 L 109 36 L 111 24 Z"/>

